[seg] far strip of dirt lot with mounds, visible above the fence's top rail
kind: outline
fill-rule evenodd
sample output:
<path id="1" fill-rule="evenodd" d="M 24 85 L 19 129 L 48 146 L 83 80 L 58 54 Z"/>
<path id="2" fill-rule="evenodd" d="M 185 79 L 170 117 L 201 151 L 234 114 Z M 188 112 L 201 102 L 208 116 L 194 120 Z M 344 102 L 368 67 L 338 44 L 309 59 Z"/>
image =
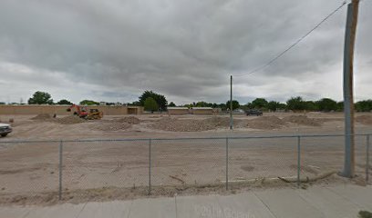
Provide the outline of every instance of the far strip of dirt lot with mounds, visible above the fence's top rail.
<path id="1" fill-rule="evenodd" d="M 77 117 L 52 118 L 41 115 L 1 115 L 0 121 L 15 120 L 11 139 L 90 139 L 154 138 L 185 136 L 225 136 L 247 134 L 312 134 L 343 133 L 341 113 L 266 113 L 263 117 L 234 115 L 234 130 L 229 130 L 229 115 L 105 116 L 99 121 Z M 372 114 L 356 114 L 358 133 L 372 130 Z"/>

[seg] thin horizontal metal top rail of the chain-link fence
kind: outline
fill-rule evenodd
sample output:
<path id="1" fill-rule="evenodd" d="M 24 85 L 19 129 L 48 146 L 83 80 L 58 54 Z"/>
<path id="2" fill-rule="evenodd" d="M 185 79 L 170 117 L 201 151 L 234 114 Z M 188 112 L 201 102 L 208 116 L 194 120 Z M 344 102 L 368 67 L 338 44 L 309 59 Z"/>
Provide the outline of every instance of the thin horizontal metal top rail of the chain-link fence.
<path id="1" fill-rule="evenodd" d="M 354 134 L 354 136 L 367 136 L 372 134 Z M 224 137 L 178 137 L 178 138 L 119 138 L 119 139 L 59 139 L 59 140 L 5 140 L 0 144 L 27 144 L 27 143 L 89 143 L 89 142 L 147 142 L 147 141 L 186 141 L 186 140 L 238 140 L 238 139 L 275 139 L 275 138 L 320 138 L 342 137 L 346 134 L 284 134 L 284 135 L 249 135 Z"/>

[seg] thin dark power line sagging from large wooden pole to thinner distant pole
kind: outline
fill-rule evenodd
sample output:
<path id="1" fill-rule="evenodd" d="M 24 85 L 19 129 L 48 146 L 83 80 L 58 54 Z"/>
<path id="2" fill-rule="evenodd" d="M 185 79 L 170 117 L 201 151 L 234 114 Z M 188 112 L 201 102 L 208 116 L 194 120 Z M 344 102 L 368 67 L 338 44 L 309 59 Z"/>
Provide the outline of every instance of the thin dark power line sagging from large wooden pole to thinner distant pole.
<path id="1" fill-rule="evenodd" d="M 271 59 L 269 62 L 267 62 L 266 64 L 263 64 L 257 68 L 255 68 L 253 71 L 251 72 L 248 72 L 248 73 L 245 73 L 245 74 L 236 74 L 236 75 L 233 75 L 233 76 L 244 76 L 244 75 L 249 75 L 249 74 L 254 74 L 256 73 L 257 71 L 260 71 L 260 70 L 263 70 L 264 68 L 266 68 L 267 66 L 273 64 L 277 59 L 279 59 L 281 56 L 283 56 L 285 53 L 287 53 L 289 50 L 291 50 L 292 48 L 294 48 L 295 45 L 298 45 L 299 43 L 301 43 L 301 41 L 303 41 L 305 39 L 305 37 L 307 37 L 308 35 L 310 35 L 311 33 L 313 33 L 315 31 L 315 29 L 317 29 L 320 25 L 322 25 L 323 23 L 325 23 L 325 21 L 331 17 L 332 15 L 335 15 L 336 12 L 338 12 L 344 5 L 346 5 L 346 1 L 344 1 L 342 3 L 342 5 L 339 5 L 334 11 L 332 11 L 331 14 L 325 16 L 325 18 L 319 22 L 317 25 L 315 25 L 309 32 L 307 32 L 305 35 L 303 35 L 302 37 L 300 37 L 297 41 L 294 42 L 294 44 L 290 45 L 289 47 L 287 47 L 282 53 L 280 54 L 277 54 L 273 59 Z"/>

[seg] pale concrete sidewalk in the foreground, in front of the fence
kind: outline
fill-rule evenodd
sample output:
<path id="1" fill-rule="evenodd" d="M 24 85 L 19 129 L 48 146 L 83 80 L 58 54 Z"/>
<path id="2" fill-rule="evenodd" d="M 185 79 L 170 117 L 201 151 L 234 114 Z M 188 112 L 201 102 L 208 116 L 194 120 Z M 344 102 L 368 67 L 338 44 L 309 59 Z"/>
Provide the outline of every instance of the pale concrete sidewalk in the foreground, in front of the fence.
<path id="1" fill-rule="evenodd" d="M 64 203 L 47 207 L 7 206 L 0 207 L 0 218 L 353 218 L 360 210 L 372 212 L 372 186 L 347 184 L 226 196 L 175 196 L 105 203 Z"/>

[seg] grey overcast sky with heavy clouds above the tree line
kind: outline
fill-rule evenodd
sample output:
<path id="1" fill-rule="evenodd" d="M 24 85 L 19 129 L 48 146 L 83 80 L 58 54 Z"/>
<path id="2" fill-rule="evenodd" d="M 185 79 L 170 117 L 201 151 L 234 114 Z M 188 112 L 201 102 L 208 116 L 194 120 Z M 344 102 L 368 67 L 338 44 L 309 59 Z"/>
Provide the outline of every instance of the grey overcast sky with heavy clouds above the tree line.
<path id="1" fill-rule="evenodd" d="M 36 91 L 132 102 L 224 103 L 230 74 L 247 73 L 294 43 L 340 0 L 1 0 L 0 102 Z M 372 98 L 372 1 L 360 5 L 356 100 Z M 234 98 L 342 100 L 346 6 L 263 71 L 234 78 Z"/>

